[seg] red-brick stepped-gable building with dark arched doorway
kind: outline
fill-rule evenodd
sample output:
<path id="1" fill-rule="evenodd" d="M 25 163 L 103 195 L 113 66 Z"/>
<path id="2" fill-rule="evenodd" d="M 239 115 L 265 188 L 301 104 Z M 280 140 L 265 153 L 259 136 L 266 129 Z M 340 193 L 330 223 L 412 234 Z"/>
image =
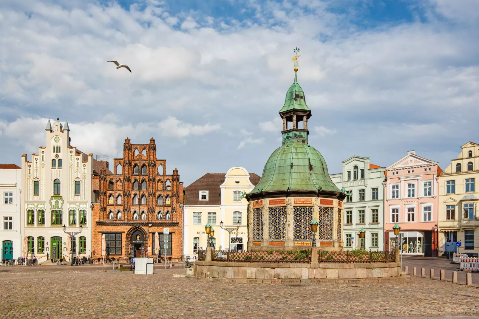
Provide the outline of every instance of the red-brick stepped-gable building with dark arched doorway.
<path id="1" fill-rule="evenodd" d="M 109 257 L 156 257 L 154 239 L 158 232 L 159 256 L 180 260 L 183 183 L 176 168 L 171 175 L 166 174 L 166 160 L 157 159 L 153 138 L 149 144 L 131 144 L 127 137 L 123 158 L 114 159 L 113 173 L 101 171 L 97 194 L 92 257 L 101 257 L 103 234 Z M 169 228 L 168 235 L 163 234 L 165 228 Z"/>

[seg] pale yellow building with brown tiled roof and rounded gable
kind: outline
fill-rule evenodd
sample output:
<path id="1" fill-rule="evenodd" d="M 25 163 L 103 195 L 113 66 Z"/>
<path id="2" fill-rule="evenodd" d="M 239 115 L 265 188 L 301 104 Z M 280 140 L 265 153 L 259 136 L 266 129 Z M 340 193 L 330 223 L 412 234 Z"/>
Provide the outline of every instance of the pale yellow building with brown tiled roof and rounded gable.
<path id="1" fill-rule="evenodd" d="M 213 243 L 217 250 L 246 250 L 248 202 L 242 195 L 249 193 L 259 180 L 258 175 L 245 168 L 232 167 L 226 174 L 206 173 L 184 188 L 184 256 L 193 260 L 199 249 L 206 248 L 206 222 L 215 230 Z M 221 222 L 223 228 L 235 230 L 230 234 L 221 228 Z"/>

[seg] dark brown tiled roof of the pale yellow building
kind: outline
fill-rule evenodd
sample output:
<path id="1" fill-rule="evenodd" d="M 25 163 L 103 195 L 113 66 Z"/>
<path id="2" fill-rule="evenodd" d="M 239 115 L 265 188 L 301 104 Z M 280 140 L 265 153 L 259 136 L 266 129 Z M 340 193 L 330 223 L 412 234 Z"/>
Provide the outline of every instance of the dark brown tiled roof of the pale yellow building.
<path id="1" fill-rule="evenodd" d="M 184 205 L 221 205 L 219 185 L 225 181 L 226 173 L 206 173 L 184 188 Z M 250 173 L 250 182 L 256 185 L 261 177 Z M 208 200 L 200 201 L 200 191 L 208 191 Z"/>

